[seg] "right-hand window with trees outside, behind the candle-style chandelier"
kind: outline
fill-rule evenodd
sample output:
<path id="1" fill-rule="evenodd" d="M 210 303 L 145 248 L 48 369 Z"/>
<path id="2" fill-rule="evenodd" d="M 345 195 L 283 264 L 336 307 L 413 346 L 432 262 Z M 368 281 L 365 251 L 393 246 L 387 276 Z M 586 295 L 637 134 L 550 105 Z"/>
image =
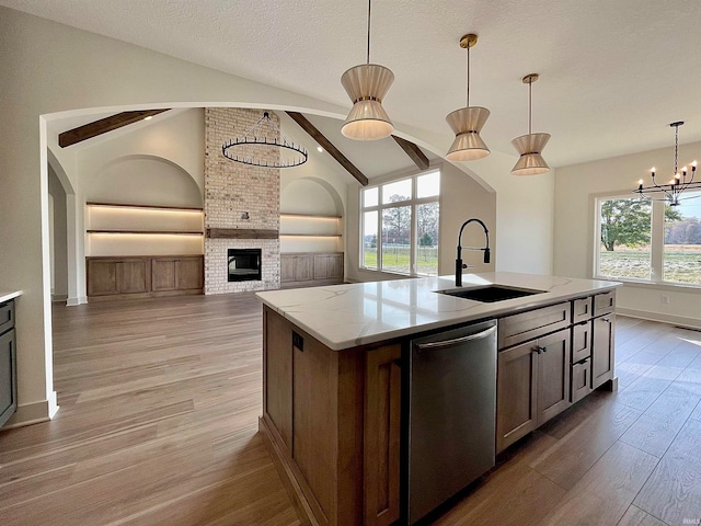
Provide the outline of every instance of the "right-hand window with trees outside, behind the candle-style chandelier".
<path id="1" fill-rule="evenodd" d="M 596 277 L 701 285 L 701 192 L 685 197 L 597 199 Z"/>

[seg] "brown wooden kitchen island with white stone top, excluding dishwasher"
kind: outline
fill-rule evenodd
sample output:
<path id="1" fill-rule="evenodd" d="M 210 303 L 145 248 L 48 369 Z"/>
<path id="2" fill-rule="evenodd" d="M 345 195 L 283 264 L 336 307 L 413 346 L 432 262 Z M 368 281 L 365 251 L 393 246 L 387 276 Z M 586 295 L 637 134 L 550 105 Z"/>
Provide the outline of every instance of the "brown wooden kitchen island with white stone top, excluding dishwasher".
<path id="1" fill-rule="evenodd" d="M 412 339 L 496 319 L 498 453 L 588 395 L 614 388 L 614 288 L 516 273 L 463 275 L 538 294 L 494 302 L 448 294 L 453 277 L 258 293 L 261 431 L 311 524 L 402 519 L 402 367 Z M 405 380 L 405 379 L 404 379 Z"/>

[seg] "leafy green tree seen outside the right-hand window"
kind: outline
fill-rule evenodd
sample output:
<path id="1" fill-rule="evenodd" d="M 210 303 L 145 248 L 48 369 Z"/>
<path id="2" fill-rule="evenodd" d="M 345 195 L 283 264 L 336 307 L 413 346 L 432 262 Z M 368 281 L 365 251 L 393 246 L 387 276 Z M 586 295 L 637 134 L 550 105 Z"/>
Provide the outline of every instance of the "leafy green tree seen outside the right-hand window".
<path id="1" fill-rule="evenodd" d="M 652 207 L 637 198 L 609 199 L 601 205 L 601 244 L 612 252 L 617 245 L 640 247 L 650 242 Z M 668 221 L 681 219 L 681 214 L 665 206 Z"/>

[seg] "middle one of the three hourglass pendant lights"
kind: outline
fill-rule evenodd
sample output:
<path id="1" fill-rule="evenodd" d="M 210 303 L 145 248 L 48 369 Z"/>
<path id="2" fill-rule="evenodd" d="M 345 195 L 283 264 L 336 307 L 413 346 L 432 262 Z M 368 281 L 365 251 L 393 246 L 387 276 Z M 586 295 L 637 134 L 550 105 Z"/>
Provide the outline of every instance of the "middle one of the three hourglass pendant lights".
<path id="1" fill-rule="evenodd" d="M 478 43 L 478 35 L 469 34 L 460 38 L 460 47 L 468 50 L 468 88 L 466 107 L 449 113 L 448 125 L 456 134 L 456 139 L 446 158 L 450 161 L 473 161 L 490 155 L 480 132 L 490 116 L 486 107 L 470 106 L 470 48 Z"/>

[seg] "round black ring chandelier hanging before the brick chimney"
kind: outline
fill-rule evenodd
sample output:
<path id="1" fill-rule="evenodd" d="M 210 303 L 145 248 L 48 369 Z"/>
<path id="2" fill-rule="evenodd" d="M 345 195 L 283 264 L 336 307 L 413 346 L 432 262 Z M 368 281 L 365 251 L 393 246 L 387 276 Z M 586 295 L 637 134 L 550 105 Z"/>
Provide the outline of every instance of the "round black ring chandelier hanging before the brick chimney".
<path id="1" fill-rule="evenodd" d="M 273 135 L 273 137 L 268 138 L 268 134 Z M 258 148 L 250 148 L 255 146 L 278 148 L 280 155 L 276 161 L 272 160 L 269 156 L 262 159 L 256 157 L 256 155 L 261 155 Z M 258 122 L 243 134 L 243 137 L 237 137 L 225 142 L 221 146 L 221 153 L 232 161 L 262 168 L 299 167 L 307 162 L 309 157 L 304 148 L 296 145 L 292 139 L 285 135 L 279 125 L 271 118 L 268 112 L 264 112 Z"/>

